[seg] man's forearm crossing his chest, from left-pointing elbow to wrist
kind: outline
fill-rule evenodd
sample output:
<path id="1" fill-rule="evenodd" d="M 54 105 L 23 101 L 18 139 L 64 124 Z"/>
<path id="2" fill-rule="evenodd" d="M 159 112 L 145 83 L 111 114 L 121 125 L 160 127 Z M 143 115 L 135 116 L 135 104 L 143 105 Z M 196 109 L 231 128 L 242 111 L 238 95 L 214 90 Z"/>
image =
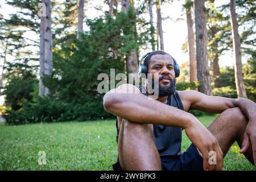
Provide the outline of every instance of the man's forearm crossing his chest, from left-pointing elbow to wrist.
<path id="1" fill-rule="evenodd" d="M 106 94 L 104 107 L 114 115 L 138 123 L 185 128 L 189 122 L 197 120 L 190 113 L 156 100 L 148 100 L 143 94 Z"/>

